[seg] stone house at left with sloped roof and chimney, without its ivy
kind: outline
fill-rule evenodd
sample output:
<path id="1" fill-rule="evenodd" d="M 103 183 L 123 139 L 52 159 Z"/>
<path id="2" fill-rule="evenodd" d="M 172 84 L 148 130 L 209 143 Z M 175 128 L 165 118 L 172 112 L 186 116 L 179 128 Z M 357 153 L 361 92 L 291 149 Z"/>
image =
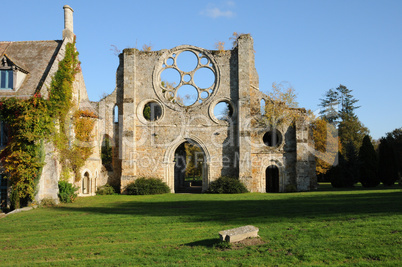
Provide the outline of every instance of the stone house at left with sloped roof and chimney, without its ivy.
<path id="1" fill-rule="evenodd" d="M 0 98 L 16 97 L 29 98 L 35 93 L 44 98 L 49 95 L 50 83 L 58 69 L 58 63 L 64 58 L 66 44 L 73 42 L 73 10 L 64 6 L 64 24 L 62 40 L 50 41 L 22 41 L 0 42 Z M 80 71 L 73 84 L 73 102 L 76 109 L 96 112 L 89 100 L 85 82 Z M 94 134 L 97 132 L 97 124 Z M 5 125 L 1 123 L 0 145 L 4 148 L 7 142 Z M 96 146 L 96 142 L 94 145 Z M 45 166 L 39 180 L 36 200 L 53 198 L 58 200 L 58 181 L 61 166 L 57 161 L 55 149 L 51 144 L 45 147 Z M 85 181 L 77 183 L 80 195 L 93 195 L 95 193 L 96 177 L 101 169 L 100 149 L 96 147 L 93 155 L 82 168 L 82 177 Z M 7 202 L 7 179 L 1 175 L 0 198 L 3 205 Z"/>

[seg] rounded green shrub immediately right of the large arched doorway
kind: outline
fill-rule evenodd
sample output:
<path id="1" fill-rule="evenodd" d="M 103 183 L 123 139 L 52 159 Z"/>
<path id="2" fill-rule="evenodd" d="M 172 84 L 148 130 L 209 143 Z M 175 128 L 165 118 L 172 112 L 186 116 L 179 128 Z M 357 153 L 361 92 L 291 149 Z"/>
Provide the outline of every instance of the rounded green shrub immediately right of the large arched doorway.
<path id="1" fill-rule="evenodd" d="M 248 190 L 237 178 L 222 176 L 213 181 L 207 190 L 207 193 L 214 194 L 239 194 L 247 193 Z"/>

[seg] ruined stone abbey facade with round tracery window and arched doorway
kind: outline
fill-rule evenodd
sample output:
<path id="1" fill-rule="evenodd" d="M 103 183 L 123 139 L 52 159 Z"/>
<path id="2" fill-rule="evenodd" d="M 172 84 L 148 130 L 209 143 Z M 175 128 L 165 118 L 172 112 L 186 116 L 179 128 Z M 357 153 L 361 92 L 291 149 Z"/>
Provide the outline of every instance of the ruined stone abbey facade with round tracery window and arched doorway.
<path id="1" fill-rule="evenodd" d="M 227 51 L 182 45 L 120 54 L 116 89 L 97 103 L 99 138 L 113 144 L 111 183 L 124 192 L 136 178 L 157 177 L 178 192 L 177 155 L 189 142 L 202 150 L 202 191 L 220 176 L 239 177 L 251 192 L 311 188 L 315 162 L 305 114 L 277 129 L 259 123 L 268 97 L 258 89 L 253 39 L 241 35 L 237 43 Z M 220 103 L 227 106 L 223 120 L 214 113 Z"/>

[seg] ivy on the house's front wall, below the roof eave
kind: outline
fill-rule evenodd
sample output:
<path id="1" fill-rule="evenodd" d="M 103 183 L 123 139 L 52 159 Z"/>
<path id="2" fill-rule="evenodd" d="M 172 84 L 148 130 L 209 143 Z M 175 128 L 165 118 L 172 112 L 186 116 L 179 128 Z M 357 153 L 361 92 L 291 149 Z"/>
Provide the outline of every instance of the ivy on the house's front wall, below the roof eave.
<path id="1" fill-rule="evenodd" d="M 43 136 L 51 132 L 49 102 L 39 94 L 29 99 L 0 102 L 0 118 L 7 123 L 9 140 L 0 160 L 20 199 L 32 199 L 44 163 Z"/>

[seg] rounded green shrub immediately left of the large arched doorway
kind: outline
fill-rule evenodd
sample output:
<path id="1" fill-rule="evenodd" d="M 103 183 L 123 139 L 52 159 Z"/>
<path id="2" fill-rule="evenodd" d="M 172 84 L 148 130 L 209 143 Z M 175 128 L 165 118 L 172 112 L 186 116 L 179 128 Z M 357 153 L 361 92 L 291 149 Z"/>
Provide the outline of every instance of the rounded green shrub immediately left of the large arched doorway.
<path id="1" fill-rule="evenodd" d="M 141 177 L 127 185 L 128 195 L 155 195 L 169 193 L 169 186 L 158 178 Z"/>

